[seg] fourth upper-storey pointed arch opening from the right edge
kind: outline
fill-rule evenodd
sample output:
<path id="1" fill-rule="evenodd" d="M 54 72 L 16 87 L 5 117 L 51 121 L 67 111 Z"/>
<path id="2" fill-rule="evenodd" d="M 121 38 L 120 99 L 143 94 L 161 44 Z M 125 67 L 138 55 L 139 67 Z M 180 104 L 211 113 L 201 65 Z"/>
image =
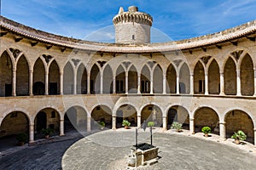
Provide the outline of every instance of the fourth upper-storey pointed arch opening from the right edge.
<path id="1" fill-rule="evenodd" d="M 194 94 L 205 94 L 205 70 L 200 61 L 194 70 Z"/>

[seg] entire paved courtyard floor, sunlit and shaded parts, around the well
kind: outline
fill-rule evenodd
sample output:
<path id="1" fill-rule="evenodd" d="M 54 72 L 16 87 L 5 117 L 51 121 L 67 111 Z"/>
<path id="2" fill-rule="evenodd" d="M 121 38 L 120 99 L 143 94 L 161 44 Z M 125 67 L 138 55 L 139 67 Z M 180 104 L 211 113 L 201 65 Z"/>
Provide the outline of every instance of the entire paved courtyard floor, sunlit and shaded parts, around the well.
<path id="1" fill-rule="evenodd" d="M 0 158 L 0 169 L 125 169 L 134 144 L 134 129 L 91 134 L 27 147 Z M 149 142 L 141 131 L 139 142 Z M 145 139 L 143 141 L 143 139 Z M 159 162 L 138 169 L 255 169 L 256 156 L 226 144 L 179 135 L 154 133 Z M 123 146 L 123 147 L 122 147 Z M 253 168 L 254 167 L 254 168 Z"/>

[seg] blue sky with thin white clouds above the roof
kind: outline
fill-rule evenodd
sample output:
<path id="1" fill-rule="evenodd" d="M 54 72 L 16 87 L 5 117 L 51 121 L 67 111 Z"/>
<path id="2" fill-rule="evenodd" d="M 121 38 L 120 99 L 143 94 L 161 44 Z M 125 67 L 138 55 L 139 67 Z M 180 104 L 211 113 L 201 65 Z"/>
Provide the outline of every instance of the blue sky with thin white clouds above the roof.
<path id="1" fill-rule="evenodd" d="M 1 15 L 65 37 L 111 42 L 113 16 L 131 5 L 154 18 L 152 42 L 198 37 L 256 19 L 256 0 L 1 0 Z"/>

